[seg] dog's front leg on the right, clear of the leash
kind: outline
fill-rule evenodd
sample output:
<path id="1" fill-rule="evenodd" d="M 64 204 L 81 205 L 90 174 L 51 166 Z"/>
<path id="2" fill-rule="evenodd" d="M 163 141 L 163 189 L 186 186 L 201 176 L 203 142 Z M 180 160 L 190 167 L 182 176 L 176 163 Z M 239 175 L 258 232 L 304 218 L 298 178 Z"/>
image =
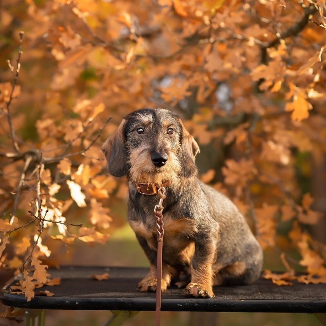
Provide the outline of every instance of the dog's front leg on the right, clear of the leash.
<path id="1" fill-rule="evenodd" d="M 185 293 L 194 297 L 212 298 L 213 270 L 216 260 L 217 232 L 211 230 L 196 235 L 195 253 L 191 263 L 191 282 L 186 286 Z"/>

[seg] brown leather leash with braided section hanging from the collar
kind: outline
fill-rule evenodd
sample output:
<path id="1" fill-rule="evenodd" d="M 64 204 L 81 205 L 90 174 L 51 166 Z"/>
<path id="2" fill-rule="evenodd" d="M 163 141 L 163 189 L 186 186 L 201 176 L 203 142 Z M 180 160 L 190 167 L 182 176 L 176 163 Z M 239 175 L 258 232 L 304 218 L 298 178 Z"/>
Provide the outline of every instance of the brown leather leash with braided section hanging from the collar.
<path id="1" fill-rule="evenodd" d="M 156 310 L 155 310 L 155 325 L 161 325 L 161 298 L 162 298 L 162 252 L 163 252 L 163 201 L 165 199 L 165 188 L 158 189 L 160 197 L 159 204 L 155 205 L 154 214 L 156 217 L 157 233 L 158 233 L 158 251 L 157 251 L 157 265 L 156 265 Z"/>

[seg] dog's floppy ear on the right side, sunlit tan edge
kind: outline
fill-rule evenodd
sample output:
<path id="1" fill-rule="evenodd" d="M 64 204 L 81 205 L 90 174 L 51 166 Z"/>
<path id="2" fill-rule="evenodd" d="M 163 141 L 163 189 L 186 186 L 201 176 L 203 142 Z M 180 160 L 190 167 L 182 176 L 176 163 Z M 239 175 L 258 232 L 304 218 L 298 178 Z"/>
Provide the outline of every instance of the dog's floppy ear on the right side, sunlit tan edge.
<path id="1" fill-rule="evenodd" d="M 181 151 L 179 153 L 179 161 L 182 166 L 182 175 L 186 178 L 190 178 L 197 173 L 197 166 L 195 164 L 195 157 L 200 152 L 199 146 L 194 137 L 182 126 L 182 138 L 181 138 Z"/>

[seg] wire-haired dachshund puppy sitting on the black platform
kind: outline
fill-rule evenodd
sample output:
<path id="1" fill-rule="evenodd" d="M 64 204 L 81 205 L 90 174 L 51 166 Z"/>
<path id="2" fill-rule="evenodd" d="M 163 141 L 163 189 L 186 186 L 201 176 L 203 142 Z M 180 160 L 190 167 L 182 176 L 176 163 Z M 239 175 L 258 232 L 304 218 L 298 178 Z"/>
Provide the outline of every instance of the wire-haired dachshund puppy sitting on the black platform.
<path id="1" fill-rule="evenodd" d="M 128 222 L 150 262 L 140 291 L 156 291 L 157 225 L 164 201 L 162 290 L 187 284 L 185 294 L 214 297 L 212 286 L 245 285 L 261 273 L 263 254 L 244 216 L 223 194 L 197 178 L 199 146 L 167 109 L 140 109 L 124 117 L 102 146 L 109 173 L 127 176 Z"/>

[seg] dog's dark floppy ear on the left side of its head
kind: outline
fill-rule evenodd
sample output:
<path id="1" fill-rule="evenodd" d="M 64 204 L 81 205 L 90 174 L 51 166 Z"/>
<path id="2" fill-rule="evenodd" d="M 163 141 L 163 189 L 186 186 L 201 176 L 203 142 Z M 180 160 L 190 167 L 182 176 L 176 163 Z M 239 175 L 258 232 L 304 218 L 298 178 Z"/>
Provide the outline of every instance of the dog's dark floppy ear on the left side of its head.
<path id="1" fill-rule="evenodd" d="M 117 131 L 105 141 L 101 148 L 108 162 L 109 173 L 116 177 L 125 175 L 130 168 L 122 134 L 124 123 L 123 119 Z"/>

